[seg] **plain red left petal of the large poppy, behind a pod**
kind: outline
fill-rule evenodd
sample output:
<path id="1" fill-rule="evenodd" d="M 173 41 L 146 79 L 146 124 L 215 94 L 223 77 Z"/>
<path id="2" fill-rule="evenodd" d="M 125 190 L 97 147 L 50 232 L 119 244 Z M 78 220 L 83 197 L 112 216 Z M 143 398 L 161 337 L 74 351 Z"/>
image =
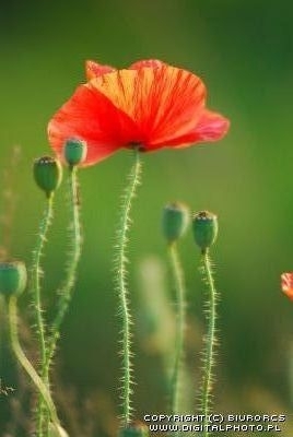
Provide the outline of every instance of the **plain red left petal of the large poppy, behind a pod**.
<path id="1" fill-rule="evenodd" d="M 49 142 L 62 160 L 69 138 L 87 143 L 83 166 L 95 164 L 138 138 L 133 121 L 97 90 L 81 85 L 48 126 Z"/>

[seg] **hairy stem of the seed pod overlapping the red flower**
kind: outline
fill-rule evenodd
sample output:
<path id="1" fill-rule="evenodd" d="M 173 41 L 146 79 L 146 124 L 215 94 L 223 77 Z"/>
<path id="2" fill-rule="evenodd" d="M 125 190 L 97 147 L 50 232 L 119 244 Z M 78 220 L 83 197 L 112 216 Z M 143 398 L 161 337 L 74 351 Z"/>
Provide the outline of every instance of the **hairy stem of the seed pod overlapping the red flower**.
<path id="1" fill-rule="evenodd" d="M 65 316 L 68 311 L 69 304 L 71 300 L 72 288 L 77 280 L 77 270 L 81 257 L 82 235 L 81 235 L 81 223 L 80 223 L 80 205 L 78 196 L 78 178 L 77 167 L 69 167 L 69 192 L 70 192 L 70 215 L 72 223 L 70 225 L 70 244 L 72 245 L 70 257 L 67 267 L 67 277 L 59 292 L 60 297 L 58 302 L 58 308 L 55 319 L 50 327 L 50 336 L 47 344 L 46 352 L 46 364 L 44 370 L 44 380 L 49 386 L 49 370 L 51 361 L 56 351 L 57 341 L 60 336 L 60 328 L 63 322 Z M 46 429 L 48 423 L 46 424 Z"/>

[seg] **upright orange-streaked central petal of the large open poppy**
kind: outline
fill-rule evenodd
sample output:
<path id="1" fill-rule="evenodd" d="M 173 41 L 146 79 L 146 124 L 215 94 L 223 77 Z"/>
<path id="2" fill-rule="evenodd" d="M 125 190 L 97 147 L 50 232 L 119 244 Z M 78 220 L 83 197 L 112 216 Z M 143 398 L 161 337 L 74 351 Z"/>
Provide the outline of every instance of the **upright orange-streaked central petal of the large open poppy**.
<path id="1" fill-rule="evenodd" d="M 200 120 L 206 97 L 198 76 L 166 64 L 115 71 L 90 85 L 136 122 L 145 151 L 190 133 Z"/>

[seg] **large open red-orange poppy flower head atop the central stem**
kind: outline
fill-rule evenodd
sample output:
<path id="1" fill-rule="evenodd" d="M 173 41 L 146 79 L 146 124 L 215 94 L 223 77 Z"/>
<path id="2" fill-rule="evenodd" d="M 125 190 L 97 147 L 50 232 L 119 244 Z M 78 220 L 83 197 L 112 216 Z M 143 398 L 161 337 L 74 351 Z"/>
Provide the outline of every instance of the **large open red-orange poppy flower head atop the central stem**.
<path id="1" fill-rule="evenodd" d="M 91 165 L 122 147 L 186 147 L 220 140 L 228 129 L 226 118 L 206 108 L 206 86 L 189 71 L 159 60 L 127 70 L 87 61 L 86 78 L 48 126 L 60 157 L 69 138 L 86 141 L 83 165 Z"/>

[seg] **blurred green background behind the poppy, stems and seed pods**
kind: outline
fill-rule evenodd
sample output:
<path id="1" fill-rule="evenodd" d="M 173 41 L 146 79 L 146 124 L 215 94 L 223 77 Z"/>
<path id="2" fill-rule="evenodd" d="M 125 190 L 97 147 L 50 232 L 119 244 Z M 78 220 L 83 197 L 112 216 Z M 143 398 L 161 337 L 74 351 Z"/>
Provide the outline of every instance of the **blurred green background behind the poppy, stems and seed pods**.
<path id="1" fill-rule="evenodd" d="M 161 212 L 171 200 L 219 215 L 220 236 L 212 251 L 222 296 L 215 410 L 292 411 L 293 306 L 280 292 L 280 274 L 293 269 L 292 22 L 293 7 L 285 0 L 278 4 L 265 0 L 12 0 L 0 7 L 1 214 L 8 215 L 9 186 L 15 200 L 11 253 L 28 265 L 45 201 L 32 180 L 32 162 L 49 153 L 47 122 L 84 81 L 85 59 L 127 67 L 138 59 L 157 58 L 191 70 L 207 84 L 208 106 L 231 119 L 230 133 L 220 143 L 143 155 L 143 185 L 133 205 L 129 248 L 138 327 L 138 418 L 165 411 L 160 346 L 145 346 L 145 314 L 137 308 L 144 288 L 139 272 L 145 259 L 157 260 L 153 262 L 159 276 L 161 270 L 167 274 Z M 15 145 L 21 147 L 21 157 L 13 176 L 10 161 Z M 115 433 L 120 373 L 112 259 L 117 208 L 130 165 L 130 153 L 121 151 L 80 172 L 84 251 L 55 367 L 58 402 L 72 436 Z M 63 185 L 44 258 L 44 293 L 50 303 L 65 271 L 65 191 Z M 3 223 L 1 233 L 4 241 Z M 196 391 L 204 319 L 199 255 L 190 233 L 180 252 L 190 321 L 188 371 Z M 153 294 L 152 303 L 155 299 Z M 23 297 L 21 305 L 30 320 L 30 298 Z M 162 296 L 157 305 L 164 305 Z M 165 305 L 173 309 L 169 303 Z M 15 369 L 3 344 L 4 340 L 1 375 L 13 386 Z M 4 436 L 11 399 L 1 397 L 0 401 Z M 85 412 L 97 425 L 89 421 L 85 429 Z M 292 435 L 290 426 L 289 415 L 283 435 Z"/>

